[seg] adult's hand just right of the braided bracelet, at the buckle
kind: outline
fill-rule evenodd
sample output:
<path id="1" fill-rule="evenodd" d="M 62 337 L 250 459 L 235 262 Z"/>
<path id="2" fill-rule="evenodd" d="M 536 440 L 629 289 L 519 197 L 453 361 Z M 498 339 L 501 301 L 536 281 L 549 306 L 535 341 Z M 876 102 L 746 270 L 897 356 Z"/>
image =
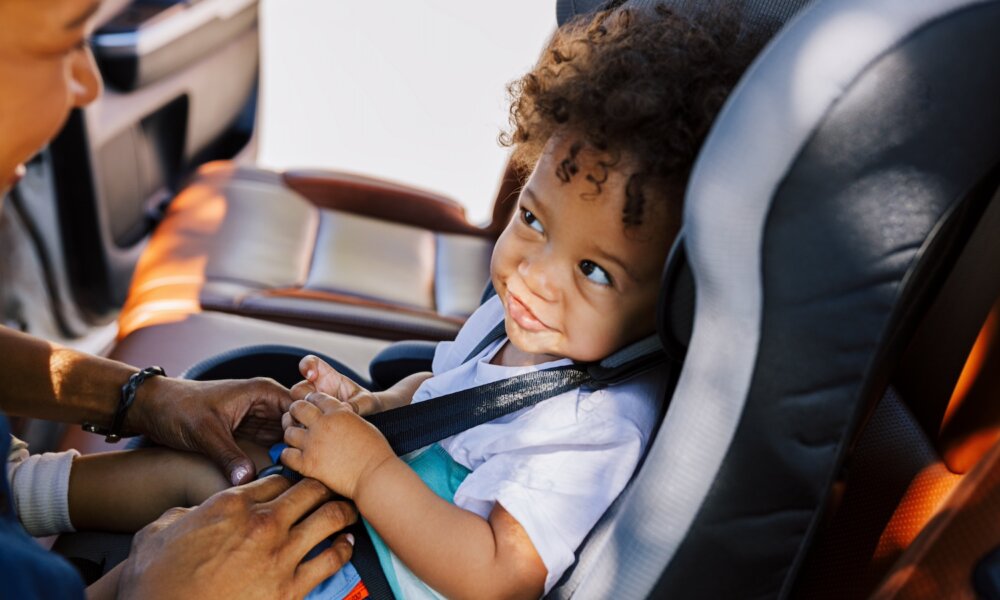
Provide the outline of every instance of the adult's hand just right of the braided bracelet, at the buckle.
<path id="1" fill-rule="evenodd" d="M 154 377 L 139 388 L 125 428 L 154 441 L 207 455 L 233 485 L 256 468 L 234 434 L 268 446 L 281 440 L 281 415 L 292 398 L 273 379 L 190 381 Z"/>

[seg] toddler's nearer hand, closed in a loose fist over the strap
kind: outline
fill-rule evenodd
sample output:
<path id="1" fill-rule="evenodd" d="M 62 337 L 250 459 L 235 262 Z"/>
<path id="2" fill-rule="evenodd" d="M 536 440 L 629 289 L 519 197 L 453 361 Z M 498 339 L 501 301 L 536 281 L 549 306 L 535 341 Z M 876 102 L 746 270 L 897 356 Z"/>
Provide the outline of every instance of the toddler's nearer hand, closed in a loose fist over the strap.
<path id="1" fill-rule="evenodd" d="M 281 462 L 347 498 L 354 498 L 359 483 L 396 456 L 375 427 L 347 403 L 322 392 L 296 400 L 285 417 L 289 447 L 281 452 Z"/>

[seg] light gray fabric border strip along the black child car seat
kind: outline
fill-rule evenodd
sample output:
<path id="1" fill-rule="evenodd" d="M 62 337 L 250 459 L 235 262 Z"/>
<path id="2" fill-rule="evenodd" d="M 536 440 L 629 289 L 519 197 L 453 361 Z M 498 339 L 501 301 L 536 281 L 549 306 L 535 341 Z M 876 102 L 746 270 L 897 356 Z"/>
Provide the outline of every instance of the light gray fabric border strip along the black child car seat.
<path id="1" fill-rule="evenodd" d="M 802 145 L 880 54 L 926 22 L 978 3 L 820 2 L 765 50 L 733 94 L 688 189 L 685 230 L 698 295 L 684 371 L 579 597 L 649 595 L 715 483 L 757 360 L 765 219 Z"/>

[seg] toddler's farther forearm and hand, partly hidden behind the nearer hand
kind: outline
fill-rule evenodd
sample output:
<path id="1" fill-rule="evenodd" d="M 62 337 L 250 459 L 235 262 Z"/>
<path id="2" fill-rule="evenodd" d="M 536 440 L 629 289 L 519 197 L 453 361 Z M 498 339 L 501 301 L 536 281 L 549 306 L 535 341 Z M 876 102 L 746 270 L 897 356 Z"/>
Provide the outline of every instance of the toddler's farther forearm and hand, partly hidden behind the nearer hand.
<path id="1" fill-rule="evenodd" d="M 346 402 L 359 415 L 371 415 L 406 406 L 413 400 L 413 394 L 420 384 L 431 377 L 429 372 L 414 373 L 387 390 L 372 392 L 311 354 L 299 362 L 299 372 L 305 377 L 305 381 L 292 386 L 293 399 L 301 400 L 311 392 L 322 392 Z"/>

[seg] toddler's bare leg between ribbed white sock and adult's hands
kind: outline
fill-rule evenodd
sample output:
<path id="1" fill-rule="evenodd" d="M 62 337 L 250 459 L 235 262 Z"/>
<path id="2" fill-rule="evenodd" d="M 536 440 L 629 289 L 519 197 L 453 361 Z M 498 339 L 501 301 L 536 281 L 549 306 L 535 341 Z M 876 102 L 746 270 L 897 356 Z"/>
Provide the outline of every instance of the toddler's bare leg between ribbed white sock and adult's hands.
<path id="1" fill-rule="evenodd" d="M 260 469 L 260 446 L 240 443 Z M 208 458 L 168 448 L 81 456 L 69 477 L 70 521 L 78 530 L 132 532 L 175 506 L 194 506 L 230 486 Z"/>

